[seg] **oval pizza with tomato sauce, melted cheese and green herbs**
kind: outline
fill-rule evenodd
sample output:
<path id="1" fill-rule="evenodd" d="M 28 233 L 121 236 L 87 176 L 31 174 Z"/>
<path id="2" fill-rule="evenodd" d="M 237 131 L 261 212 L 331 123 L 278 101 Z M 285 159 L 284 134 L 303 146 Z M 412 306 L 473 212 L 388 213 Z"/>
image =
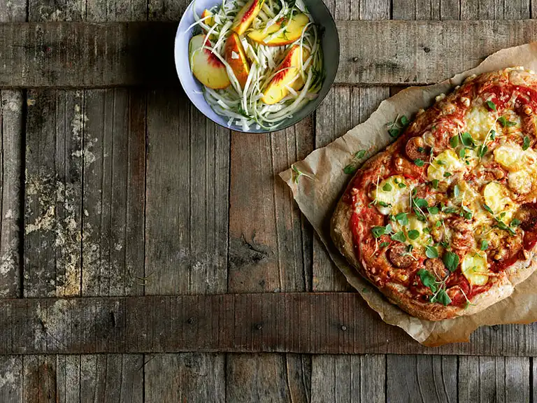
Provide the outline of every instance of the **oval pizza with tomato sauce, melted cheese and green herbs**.
<path id="1" fill-rule="evenodd" d="M 508 297 L 537 267 L 536 125 L 533 72 L 468 78 L 357 171 L 332 218 L 336 246 L 419 318 Z"/>

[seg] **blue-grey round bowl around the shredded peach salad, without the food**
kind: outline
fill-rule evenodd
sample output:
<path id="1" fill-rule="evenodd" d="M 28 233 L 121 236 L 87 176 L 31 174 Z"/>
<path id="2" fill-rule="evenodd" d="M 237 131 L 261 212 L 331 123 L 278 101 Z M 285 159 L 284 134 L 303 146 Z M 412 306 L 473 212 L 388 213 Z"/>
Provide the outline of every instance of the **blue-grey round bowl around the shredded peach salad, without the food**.
<path id="1" fill-rule="evenodd" d="M 211 8 L 221 3 L 222 0 L 196 0 L 196 13 L 197 15 L 201 15 L 205 8 Z M 327 96 L 332 84 L 334 84 L 339 64 L 339 36 L 336 23 L 334 22 L 334 18 L 332 18 L 330 11 L 328 10 L 327 6 L 324 5 L 323 1 L 304 0 L 304 3 L 313 16 L 315 23 L 320 26 L 320 30 L 322 32 L 321 43 L 324 54 L 324 69 L 326 70 L 327 76 L 324 78 L 324 83 L 319 92 L 319 96 L 308 102 L 308 104 L 306 104 L 306 106 L 304 106 L 300 111 L 294 113 L 292 118 L 284 120 L 275 129 L 256 129 L 255 125 L 252 125 L 248 133 L 270 133 L 295 125 L 303 118 L 306 118 L 306 116 L 308 116 L 310 113 L 315 111 L 317 106 L 321 104 L 324 97 Z M 187 28 L 194 23 L 194 14 L 192 13 L 193 7 L 194 1 L 189 4 L 187 10 L 185 10 L 185 13 L 182 15 L 176 34 L 176 69 L 182 88 L 185 90 L 190 101 L 192 101 L 192 104 L 194 104 L 196 108 L 203 113 L 203 115 L 206 115 L 207 118 L 213 120 L 213 122 L 220 126 L 229 127 L 229 129 L 236 130 L 237 132 L 243 132 L 244 130 L 241 126 L 228 126 L 228 119 L 217 115 L 217 113 L 210 108 L 205 98 L 203 98 L 203 93 L 201 92 L 201 83 L 194 78 L 194 75 L 190 70 L 188 44 L 190 38 L 192 38 L 192 31 L 194 28 L 189 29 L 188 31 Z"/>

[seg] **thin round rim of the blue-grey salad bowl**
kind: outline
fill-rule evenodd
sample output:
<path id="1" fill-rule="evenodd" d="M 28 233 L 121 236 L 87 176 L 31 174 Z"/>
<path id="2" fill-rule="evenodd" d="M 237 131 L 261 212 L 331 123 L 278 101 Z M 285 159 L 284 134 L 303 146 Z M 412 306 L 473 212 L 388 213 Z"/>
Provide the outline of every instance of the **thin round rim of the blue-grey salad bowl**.
<path id="1" fill-rule="evenodd" d="M 180 40 L 180 27 L 181 27 L 181 24 L 182 24 L 182 20 L 183 18 L 185 18 L 185 15 L 187 14 L 187 12 L 189 10 L 192 9 L 192 7 L 194 6 L 194 3 L 196 2 L 196 0 L 192 0 L 190 1 L 189 5 L 187 6 L 187 8 L 185 9 L 185 11 L 182 13 L 181 15 L 181 18 L 179 20 L 179 25 L 177 27 L 177 31 L 176 31 L 176 38 L 175 40 L 173 41 L 173 61 L 176 65 L 176 73 L 177 73 L 177 76 L 179 78 L 179 82 L 181 83 L 181 87 L 182 87 L 182 90 L 183 92 L 185 92 L 185 94 L 187 95 L 190 103 L 199 111 L 201 112 L 201 114 L 203 116 L 205 116 L 208 120 L 211 120 L 212 122 L 214 122 L 216 125 L 220 126 L 220 127 L 223 127 L 224 129 L 228 129 L 228 130 L 231 130 L 232 132 L 238 132 L 238 133 L 246 133 L 246 134 L 271 134 L 271 133 L 274 133 L 274 132 L 279 132 L 280 130 L 285 130 L 285 129 L 289 129 L 289 127 L 292 127 L 294 125 L 297 125 L 299 124 L 299 122 L 302 122 L 304 119 L 308 118 L 310 115 L 312 115 L 315 111 L 317 111 L 317 108 L 319 108 L 319 106 L 322 104 L 322 101 L 324 101 L 324 99 L 327 97 L 328 93 L 330 92 L 331 90 L 331 87 L 334 86 L 334 83 L 336 82 L 336 76 L 337 76 L 337 73 L 338 73 L 338 69 L 339 69 L 339 58 L 341 57 L 341 43 L 339 41 L 339 31 L 338 31 L 338 28 L 337 28 L 337 25 L 336 25 L 336 20 L 334 20 L 334 16 L 332 15 L 332 13 L 330 13 L 330 10 L 329 8 L 327 7 L 327 5 L 324 3 L 324 1 L 320 1 L 320 3 L 322 4 L 322 7 L 324 7 L 324 10 L 326 10 L 327 12 L 327 15 L 329 15 L 330 17 L 330 22 L 332 24 L 334 24 L 334 27 L 336 28 L 335 31 L 336 31 L 336 45 L 337 45 L 337 48 L 336 48 L 336 64 L 335 64 L 335 75 L 334 75 L 334 78 L 331 80 L 331 83 L 329 84 L 329 87 L 328 87 L 328 90 L 327 92 L 322 96 L 322 97 L 317 97 L 317 99 L 315 99 L 315 101 L 317 102 L 317 104 L 315 105 L 315 108 L 313 108 L 309 113 L 307 113 L 306 115 L 304 115 L 300 120 L 297 120 L 296 122 L 287 122 L 287 123 L 283 123 L 282 125 L 278 126 L 278 127 L 275 127 L 274 129 L 268 129 L 268 130 L 258 130 L 256 132 L 248 132 L 248 131 L 245 131 L 245 130 L 242 130 L 242 129 L 236 129 L 234 127 L 229 127 L 228 125 L 222 125 L 222 123 L 220 122 L 217 122 L 216 120 L 214 120 L 213 118 L 210 118 L 210 116 L 206 115 L 205 113 L 203 113 L 203 111 L 201 111 L 198 106 L 196 105 L 196 103 L 194 102 L 194 99 L 192 99 L 192 97 L 190 97 L 190 94 L 187 92 L 187 90 L 185 89 L 185 84 L 182 82 L 182 78 L 181 78 L 181 74 L 179 73 L 179 66 L 178 66 L 178 54 L 177 54 L 177 49 L 178 49 L 178 41 Z M 323 57 L 324 57 L 324 52 L 323 52 Z M 190 64 L 190 63 L 189 63 Z M 192 71 L 191 71 L 192 73 Z M 325 78 L 326 79 L 326 78 Z M 324 85 L 326 85 L 326 81 L 323 83 L 323 87 Z"/>

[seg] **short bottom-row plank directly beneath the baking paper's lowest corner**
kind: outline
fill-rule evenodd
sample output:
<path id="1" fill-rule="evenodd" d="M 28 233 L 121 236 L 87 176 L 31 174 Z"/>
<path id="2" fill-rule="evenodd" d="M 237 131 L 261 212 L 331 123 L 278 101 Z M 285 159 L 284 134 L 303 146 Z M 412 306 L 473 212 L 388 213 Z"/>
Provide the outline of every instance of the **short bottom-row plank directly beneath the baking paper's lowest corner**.
<path id="1" fill-rule="evenodd" d="M 387 355 L 386 365 L 387 402 L 457 403 L 457 357 Z"/>

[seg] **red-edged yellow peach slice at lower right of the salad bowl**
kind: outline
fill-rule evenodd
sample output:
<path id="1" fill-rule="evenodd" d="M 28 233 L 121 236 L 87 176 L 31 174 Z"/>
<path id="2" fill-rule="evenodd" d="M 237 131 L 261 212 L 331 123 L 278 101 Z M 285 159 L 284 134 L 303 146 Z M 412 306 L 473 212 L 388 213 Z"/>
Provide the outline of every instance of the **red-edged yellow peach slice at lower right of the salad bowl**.
<path id="1" fill-rule="evenodd" d="M 302 78 L 296 78 L 296 76 L 299 74 L 301 53 L 303 53 L 302 59 L 304 61 L 308 59 L 309 52 L 304 48 L 303 52 L 301 52 L 300 49 L 299 45 L 294 45 L 289 49 L 289 52 L 287 52 L 287 55 L 276 69 L 278 73 L 275 74 L 263 92 L 262 101 L 265 104 L 273 105 L 285 98 L 289 94 L 287 85 L 291 82 L 293 82 L 291 87 L 294 90 L 299 90 L 304 85 Z"/>

